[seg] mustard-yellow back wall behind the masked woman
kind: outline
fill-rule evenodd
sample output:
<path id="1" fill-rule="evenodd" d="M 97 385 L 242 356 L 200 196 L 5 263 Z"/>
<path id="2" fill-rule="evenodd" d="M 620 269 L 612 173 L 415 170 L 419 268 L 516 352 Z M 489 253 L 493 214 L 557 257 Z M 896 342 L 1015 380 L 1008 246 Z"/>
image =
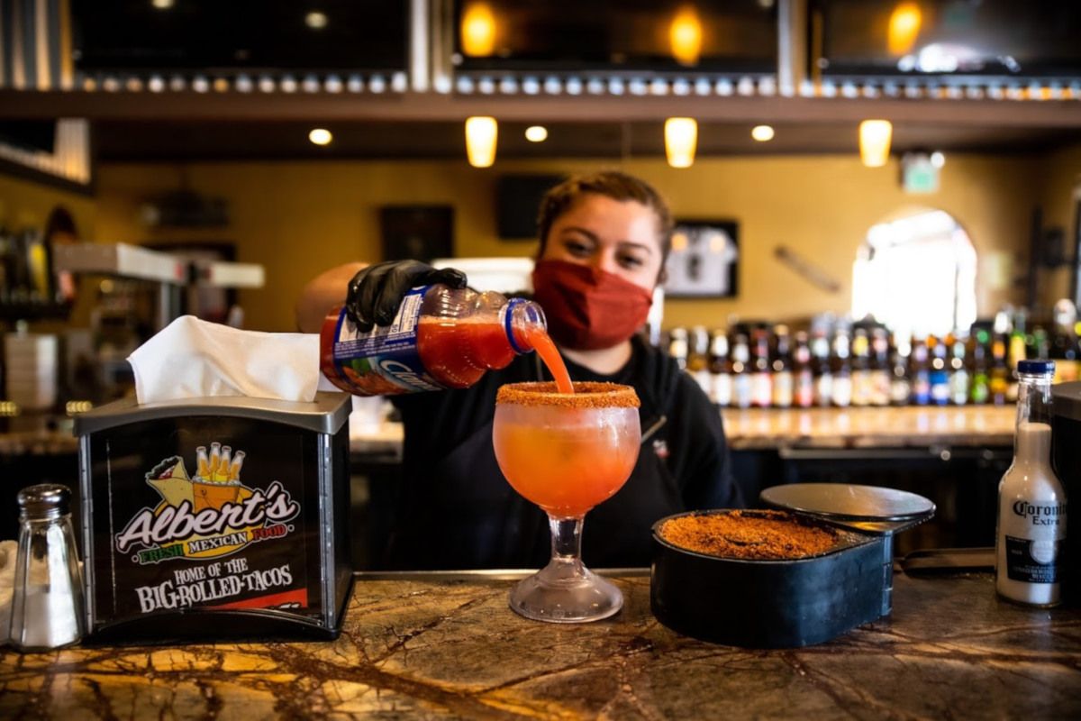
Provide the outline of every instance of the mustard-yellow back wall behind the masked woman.
<path id="1" fill-rule="evenodd" d="M 1055 162 L 1078 170 L 1078 152 Z M 969 231 L 977 253 L 1004 253 L 1018 269 L 1027 263 L 1029 217 L 1046 161 L 1025 156 L 950 155 L 940 190 L 905 195 L 896 160 L 867 169 L 855 157 L 798 156 L 699 159 L 690 170 L 663 160 L 622 163 L 586 160 L 506 161 L 478 170 L 462 161 L 236 162 L 185 166 L 107 164 L 98 169 L 96 239 L 110 242 L 231 240 L 238 259 L 266 267 L 267 286 L 242 291 L 246 325 L 294 329 L 293 306 L 307 279 L 351 259 L 377 261 L 378 208 L 390 203 L 452 204 L 458 256 L 529 255 L 533 243 L 499 240 L 495 179 L 502 173 L 549 173 L 618 165 L 654 183 L 677 216 L 739 222 L 739 293 L 733 299 L 669 299 L 665 324 L 724 324 L 731 315 L 799 319 L 851 302 L 852 262 L 867 229 L 911 205 L 940 208 Z M 224 229 L 150 230 L 138 222 L 149 197 L 187 182 L 227 199 Z M 1049 181 L 1050 183 L 1050 181 Z M 841 283 L 827 293 L 774 256 L 784 244 Z M 918 279 L 913 279 L 918 280 Z M 1023 301 L 1022 283 L 980 286 L 980 313 Z M 915 292 L 915 291 L 913 291 Z"/>

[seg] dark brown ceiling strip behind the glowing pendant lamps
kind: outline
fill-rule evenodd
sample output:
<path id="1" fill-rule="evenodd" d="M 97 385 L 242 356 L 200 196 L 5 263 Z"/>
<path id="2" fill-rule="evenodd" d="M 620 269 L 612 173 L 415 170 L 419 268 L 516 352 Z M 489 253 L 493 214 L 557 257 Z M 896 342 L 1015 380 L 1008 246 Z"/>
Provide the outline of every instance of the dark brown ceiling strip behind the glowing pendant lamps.
<path id="1" fill-rule="evenodd" d="M 750 137 L 751 122 L 699 121 L 698 157 L 738 155 L 854 153 L 854 121 L 771 123 L 774 139 Z M 330 130 L 329 146 L 308 131 Z M 648 158 L 664 156 L 659 121 L 545 123 L 548 139 L 530 143 L 524 122 L 501 122 L 498 158 Z M 95 120 L 96 156 L 104 162 L 440 159 L 465 158 L 461 121 L 226 121 Z M 895 122 L 893 150 L 1022 153 L 1081 141 L 1079 128 L 966 125 Z"/>

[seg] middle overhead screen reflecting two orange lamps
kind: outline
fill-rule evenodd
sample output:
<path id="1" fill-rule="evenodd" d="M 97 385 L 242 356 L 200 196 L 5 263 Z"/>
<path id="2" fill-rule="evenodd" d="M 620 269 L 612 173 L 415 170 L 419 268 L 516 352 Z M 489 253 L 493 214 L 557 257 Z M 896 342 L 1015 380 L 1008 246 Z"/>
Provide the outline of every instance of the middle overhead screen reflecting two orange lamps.
<path id="1" fill-rule="evenodd" d="M 762 0 L 454 0 L 462 70 L 777 69 L 777 3 Z"/>

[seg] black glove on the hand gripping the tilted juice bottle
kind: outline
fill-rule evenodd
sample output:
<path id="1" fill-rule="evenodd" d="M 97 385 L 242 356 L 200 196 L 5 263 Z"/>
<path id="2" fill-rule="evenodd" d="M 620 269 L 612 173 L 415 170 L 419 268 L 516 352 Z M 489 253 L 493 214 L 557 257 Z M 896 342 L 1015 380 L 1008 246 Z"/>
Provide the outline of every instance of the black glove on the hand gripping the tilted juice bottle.
<path id="1" fill-rule="evenodd" d="M 419 261 L 387 261 L 362 268 L 349 281 L 345 311 L 357 330 L 368 333 L 373 325 L 389 325 L 410 289 L 443 283 L 466 286 L 466 275 L 455 268 L 436 269 Z"/>

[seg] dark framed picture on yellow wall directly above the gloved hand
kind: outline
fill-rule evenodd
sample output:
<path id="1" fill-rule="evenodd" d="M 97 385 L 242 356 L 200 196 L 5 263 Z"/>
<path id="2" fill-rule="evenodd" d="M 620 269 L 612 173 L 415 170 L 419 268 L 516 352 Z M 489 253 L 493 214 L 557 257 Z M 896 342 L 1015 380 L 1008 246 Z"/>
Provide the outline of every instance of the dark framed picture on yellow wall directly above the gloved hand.
<path id="1" fill-rule="evenodd" d="M 384 261 L 423 261 L 454 255 L 452 205 L 384 205 L 379 209 Z"/>

